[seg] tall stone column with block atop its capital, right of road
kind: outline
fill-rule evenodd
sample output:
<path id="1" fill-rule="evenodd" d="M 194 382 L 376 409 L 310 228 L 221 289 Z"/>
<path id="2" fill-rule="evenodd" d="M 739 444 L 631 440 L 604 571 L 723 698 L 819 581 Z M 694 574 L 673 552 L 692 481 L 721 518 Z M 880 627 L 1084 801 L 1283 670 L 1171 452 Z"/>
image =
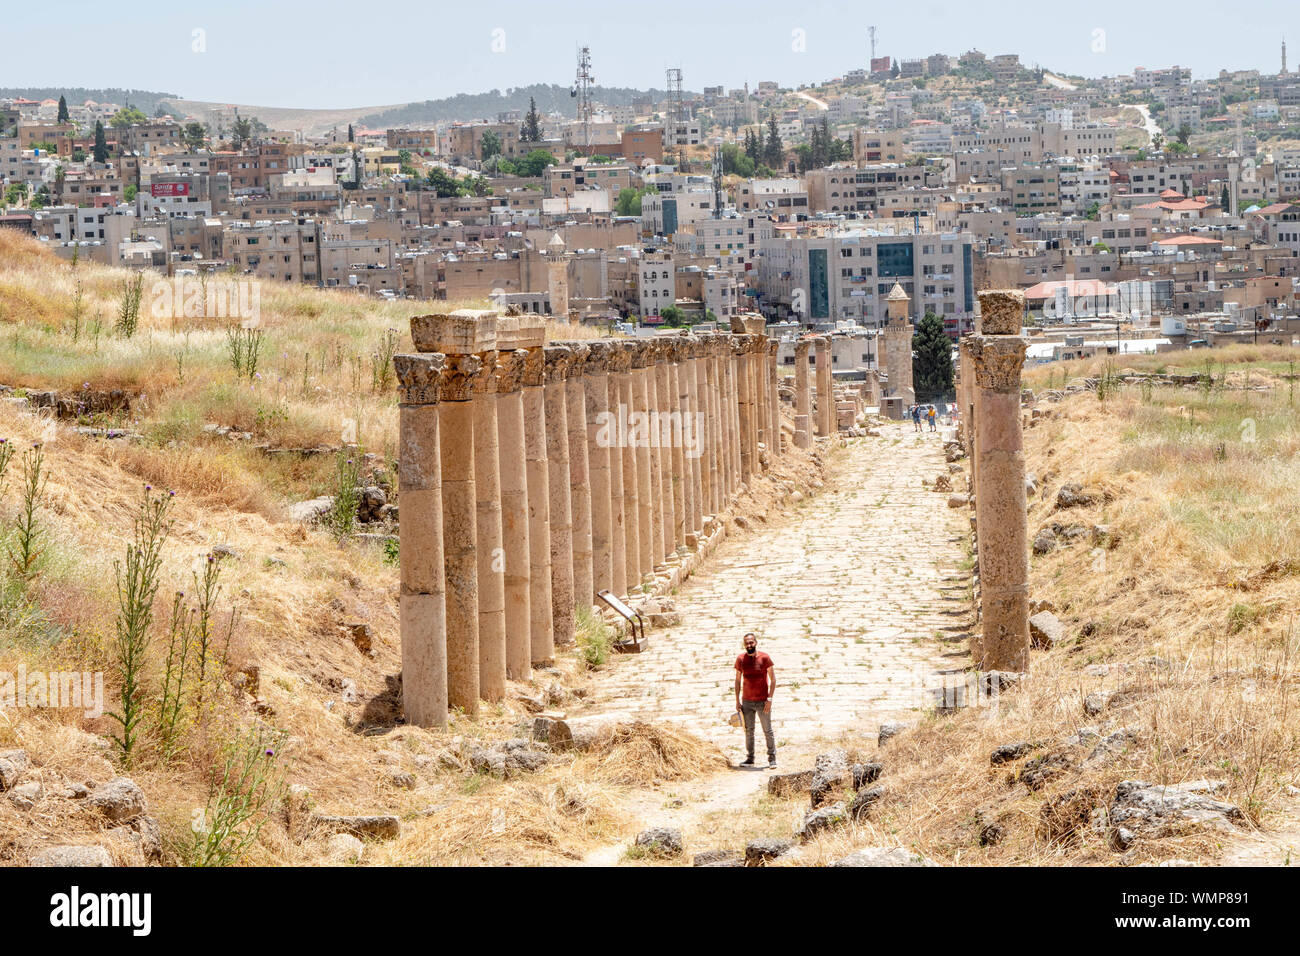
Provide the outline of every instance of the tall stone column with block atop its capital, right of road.
<path id="1" fill-rule="evenodd" d="M 1030 551 L 1020 421 L 1024 295 L 982 291 L 971 337 L 979 390 L 979 571 L 983 670 L 1023 671 L 1030 656 Z"/>

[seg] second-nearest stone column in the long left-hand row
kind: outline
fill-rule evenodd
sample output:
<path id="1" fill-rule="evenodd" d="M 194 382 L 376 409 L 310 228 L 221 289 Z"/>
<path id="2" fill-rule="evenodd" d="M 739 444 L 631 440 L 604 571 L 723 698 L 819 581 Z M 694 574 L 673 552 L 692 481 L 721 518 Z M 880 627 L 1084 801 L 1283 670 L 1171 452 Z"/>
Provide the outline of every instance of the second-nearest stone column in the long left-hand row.
<path id="1" fill-rule="evenodd" d="M 438 403 L 442 559 L 447 574 L 447 706 L 478 715 L 478 514 L 473 393 L 477 355 L 447 355 Z"/>

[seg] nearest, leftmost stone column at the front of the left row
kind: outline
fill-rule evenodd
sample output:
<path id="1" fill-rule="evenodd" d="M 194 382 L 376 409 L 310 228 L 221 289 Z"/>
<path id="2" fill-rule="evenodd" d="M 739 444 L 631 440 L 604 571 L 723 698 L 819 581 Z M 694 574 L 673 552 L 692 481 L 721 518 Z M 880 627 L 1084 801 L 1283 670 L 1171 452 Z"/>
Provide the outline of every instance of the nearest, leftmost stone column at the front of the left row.
<path id="1" fill-rule="evenodd" d="M 442 568 L 442 453 L 438 384 L 442 355 L 394 355 L 402 589 L 402 710 L 417 727 L 447 726 L 447 618 Z"/>

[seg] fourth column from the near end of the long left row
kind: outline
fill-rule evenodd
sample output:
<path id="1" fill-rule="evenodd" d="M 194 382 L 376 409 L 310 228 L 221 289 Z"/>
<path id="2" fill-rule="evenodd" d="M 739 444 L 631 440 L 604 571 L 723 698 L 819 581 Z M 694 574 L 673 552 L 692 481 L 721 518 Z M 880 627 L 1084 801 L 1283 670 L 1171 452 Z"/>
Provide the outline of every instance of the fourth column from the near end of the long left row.
<path id="1" fill-rule="evenodd" d="M 526 680 L 533 663 L 528 549 L 528 440 L 524 429 L 524 349 L 497 360 L 497 441 L 500 540 L 506 564 L 506 676 Z M 474 446 L 477 450 L 477 445 Z"/>

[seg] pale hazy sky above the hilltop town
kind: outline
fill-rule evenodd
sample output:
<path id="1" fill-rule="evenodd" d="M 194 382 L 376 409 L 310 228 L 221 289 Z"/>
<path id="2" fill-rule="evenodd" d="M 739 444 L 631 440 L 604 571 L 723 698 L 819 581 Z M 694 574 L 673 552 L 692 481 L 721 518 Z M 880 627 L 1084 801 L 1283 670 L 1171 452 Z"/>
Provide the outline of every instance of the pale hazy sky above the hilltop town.
<path id="1" fill-rule="evenodd" d="M 1275 72 L 1290 35 L 1288 66 L 1300 66 L 1294 0 L 9 0 L 5 7 L 0 86 L 114 86 L 298 108 L 569 83 L 581 43 L 592 47 L 597 82 L 610 86 L 663 87 L 667 66 L 680 66 L 693 90 L 760 79 L 811 83 L 864 66 L 870 25 L 880 56 L 975 47 L 1086 75 L 1176 62 L 1202 77 L 1221 68 Z"/>

